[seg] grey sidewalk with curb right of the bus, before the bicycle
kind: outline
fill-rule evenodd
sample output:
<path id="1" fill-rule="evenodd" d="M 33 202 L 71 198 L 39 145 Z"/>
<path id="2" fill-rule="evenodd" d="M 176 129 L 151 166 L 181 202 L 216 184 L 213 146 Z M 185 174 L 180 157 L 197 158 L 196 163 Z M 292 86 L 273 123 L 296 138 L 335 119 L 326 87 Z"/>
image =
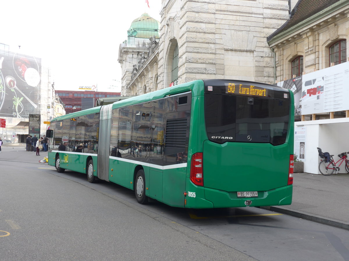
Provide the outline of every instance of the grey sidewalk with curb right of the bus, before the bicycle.
<path id="1" fill-rule="evenodd" d="M 25 151 L 25 143 L 2 145 L 17 146 Z M 330 176 L 294 173 L 292 204 L 262 208 L 349 230 L 349 173 Z"/>

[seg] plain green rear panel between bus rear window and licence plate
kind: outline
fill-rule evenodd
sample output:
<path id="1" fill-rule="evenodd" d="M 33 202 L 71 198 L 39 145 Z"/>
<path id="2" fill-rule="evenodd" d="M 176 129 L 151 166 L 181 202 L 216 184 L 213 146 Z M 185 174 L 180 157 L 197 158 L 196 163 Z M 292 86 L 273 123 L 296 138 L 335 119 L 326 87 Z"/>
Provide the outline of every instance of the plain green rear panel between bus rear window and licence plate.
<path id="1" fill-rule="evenodd" d="M 290 146 L 285 143 L 228 142 L 203 144 L 206 188 L 223 191 L 267 191 L 287 185 Z"/>

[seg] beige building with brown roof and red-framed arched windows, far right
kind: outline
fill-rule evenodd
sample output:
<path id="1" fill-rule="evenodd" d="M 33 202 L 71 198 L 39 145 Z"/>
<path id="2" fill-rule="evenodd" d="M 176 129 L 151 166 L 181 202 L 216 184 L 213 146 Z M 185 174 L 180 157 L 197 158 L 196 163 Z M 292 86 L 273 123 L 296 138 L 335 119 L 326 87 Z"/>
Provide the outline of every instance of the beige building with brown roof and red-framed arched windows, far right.
<path id="1" fill-rule="evenodd" d="M 348 61 L 348 0 L 300 0 L 290 19 L 267 38 L 275 52 L 275 82 Z M 301 95 L 302 85 L 295 90 Z M 296 93 L 299 92 L 299 95 Z M 301 99 L 300 99 L 301 100 Z M 299 102 L 299 101 L 298 101 Z M 349 117 L 349 111 L 302 115 L 302 120 Z"/>

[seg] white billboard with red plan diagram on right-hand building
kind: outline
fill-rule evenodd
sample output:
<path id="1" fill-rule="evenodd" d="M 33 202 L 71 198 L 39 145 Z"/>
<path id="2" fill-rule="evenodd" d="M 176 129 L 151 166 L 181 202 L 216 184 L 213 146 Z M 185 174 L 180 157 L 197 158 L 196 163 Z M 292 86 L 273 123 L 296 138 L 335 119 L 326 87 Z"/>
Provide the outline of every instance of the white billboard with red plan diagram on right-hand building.
<path id="1" fill-rule="evenodd" d="M 349 110 L 349 62 L 303 75 L 302 114 Z"/>

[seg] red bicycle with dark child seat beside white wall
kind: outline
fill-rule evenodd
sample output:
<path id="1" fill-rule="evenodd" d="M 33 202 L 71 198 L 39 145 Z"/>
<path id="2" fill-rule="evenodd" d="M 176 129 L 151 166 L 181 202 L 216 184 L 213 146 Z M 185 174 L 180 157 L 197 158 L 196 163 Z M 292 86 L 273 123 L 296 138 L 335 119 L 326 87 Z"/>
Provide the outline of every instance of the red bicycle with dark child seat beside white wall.
<path id="1" fill-rule="evenodd" d="M 333 160 L 334 155 L 329 155 L 327 153 L 328 155 L 326 156 L 324 153 L 322 153 L 320 148 L 317 148 L 317 149 L 319 151 L 319 156 L 322 158 L 320 163 L 319 163 L 319 171 L 322 175 L 329 176 L 334 171 L 336 171 L 336 173 L 338 173 L 340 171 L 339 167 L 342 165 L 343 161 L 345 161 L 344 165 L 345 165 L 347 173 L 349 173 L 349 160 L 348 160 L 348 156 L 347 156 L 347 153 L 349 153 L 349 151 L 339 154 L 338 157 L 340 159 L 337 162 L 335 162 Z M 328 157 L 330 157 L 331 160 L 327 162 Z M 341 161 L 341 163 L 337 166 L 337 163 L 339 163 L 339 161 Z"/>

